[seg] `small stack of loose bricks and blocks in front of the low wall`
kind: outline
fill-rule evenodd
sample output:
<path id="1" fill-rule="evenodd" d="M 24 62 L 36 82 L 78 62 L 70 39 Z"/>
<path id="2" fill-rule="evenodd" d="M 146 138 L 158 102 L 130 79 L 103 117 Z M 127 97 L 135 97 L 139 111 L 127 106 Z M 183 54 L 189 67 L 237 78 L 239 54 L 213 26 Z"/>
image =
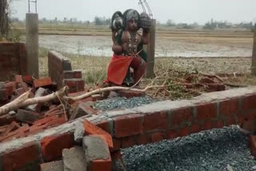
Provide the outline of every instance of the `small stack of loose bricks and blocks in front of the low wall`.
<path id="1" fill-rule="evenodd" d="M 80 122 L 75 129 L 74 140 L 71 141 L 76 141 L 74 147 L 62 149 L 54 142 L 54 138 L 42 140 L 42 156 L 46 163 L 41 164 L 41 170 L 120 170 L 114 168 L 116 165 L 125 170 L 120 152 L 113 152 L 111 135 L 90 121 Z"/>

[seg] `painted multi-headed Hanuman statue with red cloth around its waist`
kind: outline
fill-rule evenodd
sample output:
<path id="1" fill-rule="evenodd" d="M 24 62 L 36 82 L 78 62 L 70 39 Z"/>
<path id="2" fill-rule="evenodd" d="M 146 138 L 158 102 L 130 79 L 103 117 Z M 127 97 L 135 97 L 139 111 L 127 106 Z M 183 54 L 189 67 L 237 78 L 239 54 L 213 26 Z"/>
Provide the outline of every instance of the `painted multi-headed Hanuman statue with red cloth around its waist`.
<path id="1" fill-rule="evenodd" d="M 117 11 L 111 19 L 112 50 L 105 83 L 131 86 L 140 81 L 146 70 L 146 52 L 149 42 L 150 17 L 137 10 Z M 142 33 L 142 34 L 141 34 Z M 133 74 L 132 71 L 133 70 Z"/>

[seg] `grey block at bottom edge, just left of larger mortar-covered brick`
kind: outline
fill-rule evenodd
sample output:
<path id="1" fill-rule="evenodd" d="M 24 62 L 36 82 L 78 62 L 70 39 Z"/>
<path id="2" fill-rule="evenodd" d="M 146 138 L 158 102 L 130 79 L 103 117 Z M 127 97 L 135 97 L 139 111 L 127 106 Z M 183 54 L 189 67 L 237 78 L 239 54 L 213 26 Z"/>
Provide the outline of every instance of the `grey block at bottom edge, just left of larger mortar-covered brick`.
<path id="1" fill-rule="evenodd" d="M 86 159 L 82 147 L 62 150 L 64 171 L 85 171 Z"/>

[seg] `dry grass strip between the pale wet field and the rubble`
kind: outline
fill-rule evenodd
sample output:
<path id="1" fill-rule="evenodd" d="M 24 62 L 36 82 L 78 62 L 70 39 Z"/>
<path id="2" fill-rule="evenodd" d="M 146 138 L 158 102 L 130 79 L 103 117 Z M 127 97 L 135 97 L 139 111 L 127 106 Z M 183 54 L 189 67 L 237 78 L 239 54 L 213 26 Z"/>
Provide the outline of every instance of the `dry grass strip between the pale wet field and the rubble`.
<path id="1" fill-rule="evenodd" d="M 110 58 L 95 57 L 79 54 L 63 54 L 70 59 L 73 70 L 82 70 L 82 78 L 86 85 L 94 86 L 102 83 L 106 79 L 106 71 Z M 47 50 L 39 50 L 39 66 L 40 77 L 48 75 Z M 161 79 L 155 81 L 155 85 L 162 85 L 166 82 L 167 91 L 158 89 L 152 90 L 152 96 L 160 100 L 166 99 L 188 99 L 197 96 L 198 93 L 204 93 L 202 89 L 188 91 L 177 82 L 183 82 L 187 74 L 194 72 L 202 72 L 206 74 L 229 74 L 228 78 L 224 78 L 226 82 L 237 85 L 256 85 L 256 77 L 250 75 L 251 58 L 156 58 L 154 72 Z M 242 74 L 242 76 L 233 76 Z M 166 79 L 168 78 L 168 79 Z M 152 82 L 151 79 L 143 79 L 141 88 Z M 195 80 L 194 82 L 198 82 Z M 169 93 L 169 94 L 168 94 Z"/>

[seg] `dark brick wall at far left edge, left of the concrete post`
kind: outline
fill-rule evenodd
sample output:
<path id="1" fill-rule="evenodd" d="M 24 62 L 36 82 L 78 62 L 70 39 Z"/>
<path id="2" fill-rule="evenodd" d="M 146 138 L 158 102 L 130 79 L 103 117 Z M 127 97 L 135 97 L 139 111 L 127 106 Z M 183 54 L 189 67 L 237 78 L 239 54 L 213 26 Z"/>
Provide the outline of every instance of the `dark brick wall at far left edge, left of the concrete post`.
<path id="1" fill-rule="evenodd" d="M 26 74 L 26 46 L 24 43 L 0 43 L 0 81 L 12 80 L 15 74 Z"/>

